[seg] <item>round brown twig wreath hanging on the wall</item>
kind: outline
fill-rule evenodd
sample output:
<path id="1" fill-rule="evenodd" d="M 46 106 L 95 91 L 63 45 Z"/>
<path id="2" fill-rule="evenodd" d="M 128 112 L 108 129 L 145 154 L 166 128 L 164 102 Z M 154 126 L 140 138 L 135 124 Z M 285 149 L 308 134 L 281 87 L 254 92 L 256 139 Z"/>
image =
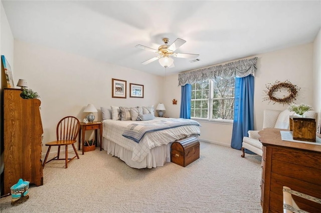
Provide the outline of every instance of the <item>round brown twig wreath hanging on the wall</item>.
<path id="1" fill-rule="evenodd" d="M 297 91 L 300 90 L 300 88 L 298 88 L 296 85 L 293 85 L 288 80 L 285 80 L 284 82 L 276 80 L 273 84 L 268 83 L 265 84 L 265 86 L 267 90 L 264 90 L 264 92 L 266 93 L 267 97 L 264 97 L 263 100 L 269 100 L 269 102 L 274 101 L 274 103 L 282 103 L 283 105 L 285 103 L 290 104 L 293 102 L 293 100 L 296 100 Z M 276 97 L 275 93 L 277 91 L 281 91 L 282 88 L 286 88 L 289 94 L 287 96 L 284 95 L 283 98 Z"/>

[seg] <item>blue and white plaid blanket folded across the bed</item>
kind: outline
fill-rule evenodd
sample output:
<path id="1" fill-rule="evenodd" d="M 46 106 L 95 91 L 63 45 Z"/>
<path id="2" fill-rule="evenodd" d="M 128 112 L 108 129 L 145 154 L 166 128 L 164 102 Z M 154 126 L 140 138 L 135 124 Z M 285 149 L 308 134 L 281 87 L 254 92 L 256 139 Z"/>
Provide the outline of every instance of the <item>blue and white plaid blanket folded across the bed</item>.
<path id="1" fill-rule="evenodd" d="M 151 120 L 149 122 L 131 123 L 127 125 L 122 135 L 138 143 L 147 132 L 159 131 L 183 125 L 200 126 L 200 123 L 195 120 L 184 118 L 168 118 L 164 120 Z"/>

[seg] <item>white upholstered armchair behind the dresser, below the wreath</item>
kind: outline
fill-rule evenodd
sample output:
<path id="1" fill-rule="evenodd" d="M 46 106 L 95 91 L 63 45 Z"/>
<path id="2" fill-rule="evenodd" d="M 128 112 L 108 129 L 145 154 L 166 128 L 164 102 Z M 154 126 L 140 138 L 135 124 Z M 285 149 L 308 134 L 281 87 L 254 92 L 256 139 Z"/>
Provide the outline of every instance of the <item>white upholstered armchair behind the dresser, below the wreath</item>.
<path id="1" fill-rule="evenodd" d="M 273 109 L 265 109 L 263 114 L 263 128 L 289 128 L 289 116 L 294 115 L 293 111 L 289 111 L 285 109 L 281 110 L 273 110 Z M 317 113 L 314 111 L 307 111 L 304 113 L 305 117 L 315 118 Z M 259 130 L 249 130 L 248 137 L 243 137 L 242 142 L 242 157 L 245 156 L 244 149 L 248 149 L 260 156 L 262 156 L 262 143 L 258 139 L 260 135 L 258 134 Z"/>

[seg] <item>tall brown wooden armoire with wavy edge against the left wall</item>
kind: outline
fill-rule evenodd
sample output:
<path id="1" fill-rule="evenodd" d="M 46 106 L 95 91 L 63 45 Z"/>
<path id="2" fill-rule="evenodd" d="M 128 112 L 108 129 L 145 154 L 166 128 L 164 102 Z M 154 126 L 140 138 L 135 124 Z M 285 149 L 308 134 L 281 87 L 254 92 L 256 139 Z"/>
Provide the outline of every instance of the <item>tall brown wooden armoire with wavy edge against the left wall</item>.
<path id="1" fill-rule="evenodd" d="M 21 89 L 4 89 L 4 194 L 19 178 L 43 185 L 39 99 L 24 99 Z"/>

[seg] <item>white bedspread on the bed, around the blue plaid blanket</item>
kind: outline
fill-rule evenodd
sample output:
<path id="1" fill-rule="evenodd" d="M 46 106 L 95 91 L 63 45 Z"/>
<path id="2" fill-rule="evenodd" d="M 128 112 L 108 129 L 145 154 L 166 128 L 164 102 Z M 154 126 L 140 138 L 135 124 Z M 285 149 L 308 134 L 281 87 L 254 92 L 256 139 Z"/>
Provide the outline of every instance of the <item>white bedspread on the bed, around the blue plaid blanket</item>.
<path id="1" fill-rule="evenodd" d="M 155 117 L 154 119 L 166 119 L 163 117 Z M 200 128 L 197 125 L 178 126 L 174 128 L 148 132 L 140 140 L 139 143 L 122 136 L 126 126 L 133 122 L 148 122 L 147 121 L 133 121 L 133 120 L 103 120 L 103 134 L 102 136 L 111 140 L 122 147 L 131 150 L 132 160 L 141 162 L 149 153 L 150 149 L 155 146 L 161 146 L 174 142 L 175 140 L 185 138 L 192 134 L 200 134 Z"/>

